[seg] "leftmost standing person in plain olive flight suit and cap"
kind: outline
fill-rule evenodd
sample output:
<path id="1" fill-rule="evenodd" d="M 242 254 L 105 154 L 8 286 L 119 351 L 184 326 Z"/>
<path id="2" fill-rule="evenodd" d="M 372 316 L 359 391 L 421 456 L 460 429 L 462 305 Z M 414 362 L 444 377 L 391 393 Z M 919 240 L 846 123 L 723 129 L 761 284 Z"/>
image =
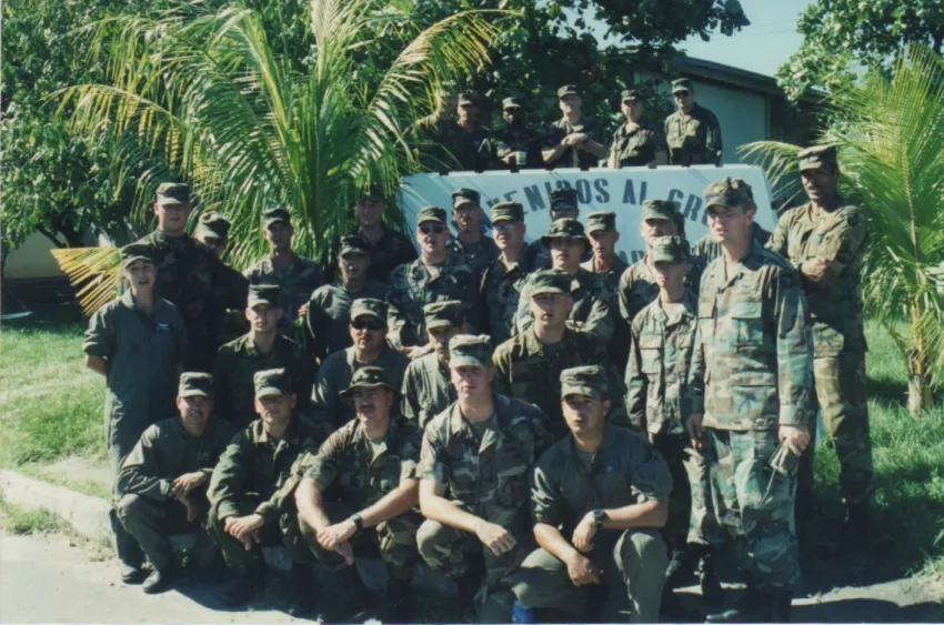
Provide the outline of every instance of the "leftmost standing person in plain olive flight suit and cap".
<path id="1" fill-rule="evenodd" d="M 121 275 L 129 289 L 89 320 L 82 351 L 86 366 L 104 375 L 104 432 L 112 486 L 121 462 L 152 423 L 173 414 L 173 397 L 187 351 L 187 333 L 177 306 L 154 292 L 157 269 L 147 245 L 121 249 Z M 113 498 L 112 505 L 116 504 Z M 109 512 L 121 581 L 140 584 L 143 554 Z"/>

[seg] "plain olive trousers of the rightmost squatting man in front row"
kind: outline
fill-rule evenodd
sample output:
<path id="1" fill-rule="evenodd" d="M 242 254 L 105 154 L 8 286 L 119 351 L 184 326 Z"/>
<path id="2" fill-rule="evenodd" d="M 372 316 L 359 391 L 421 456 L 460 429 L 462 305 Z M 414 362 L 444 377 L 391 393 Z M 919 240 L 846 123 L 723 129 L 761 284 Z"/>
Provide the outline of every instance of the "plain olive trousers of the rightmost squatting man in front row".
<path id="1" fill-rule="evenodd" d="M 659 622 L 663 573 L 669 565 L 659 532 L 604 530 L 594 537 L 590 560 L 603 571 L 603 586 L 574 586 L 566 564 L 543 548 L 534 550 L 511 575 L 512 592 L 529 607 L 575 616 L 602 608 L 604 623 L 625 622 L 626 608 L 630 623 Z M 605 602 L 602 606 L 591 605 L 601 601 Z"/>

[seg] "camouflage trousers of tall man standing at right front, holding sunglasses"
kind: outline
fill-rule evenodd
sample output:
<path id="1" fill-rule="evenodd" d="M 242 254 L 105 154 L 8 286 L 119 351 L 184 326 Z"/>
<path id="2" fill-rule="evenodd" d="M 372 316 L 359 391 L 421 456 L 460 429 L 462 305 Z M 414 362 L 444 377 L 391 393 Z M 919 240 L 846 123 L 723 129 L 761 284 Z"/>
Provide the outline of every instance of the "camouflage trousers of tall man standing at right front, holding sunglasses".
<path id="1" fill-rule="evenodd" d="M 767 464 L 779 445 L 776 430 L 706 427 L 705 434 L 712 504 L 737 547 L 741 569 L 761 591 L 797 587 L 796 480 Z"/>

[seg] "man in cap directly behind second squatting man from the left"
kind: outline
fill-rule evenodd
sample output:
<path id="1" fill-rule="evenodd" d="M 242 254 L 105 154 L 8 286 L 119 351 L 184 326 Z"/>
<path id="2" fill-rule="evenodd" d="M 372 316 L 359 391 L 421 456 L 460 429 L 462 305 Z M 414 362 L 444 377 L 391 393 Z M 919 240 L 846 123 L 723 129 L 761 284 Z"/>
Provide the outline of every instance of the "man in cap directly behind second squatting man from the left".
<path id="1" fill-rule="evenodd" d="M 249 333 L 217 352 L 213 362 L 215 412 L 238 427 L 255 421 L 252 379 L 257 372 L 268 369 L 285 369 L 299 397 L 295 410 L 301 413 L 310 410 L 314 365 L 301 345 L 279 334 L 281 315 L 281 289 L 274 284 L 253 284 L 249 288 L 245 309 Z"/>

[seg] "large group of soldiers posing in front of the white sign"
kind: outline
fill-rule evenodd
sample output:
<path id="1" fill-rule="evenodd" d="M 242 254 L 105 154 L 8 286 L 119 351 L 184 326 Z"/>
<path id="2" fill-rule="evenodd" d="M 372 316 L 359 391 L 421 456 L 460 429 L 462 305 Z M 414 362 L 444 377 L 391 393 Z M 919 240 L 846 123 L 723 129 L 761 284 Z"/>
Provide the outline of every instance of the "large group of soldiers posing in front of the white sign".
<path id="1" fill-rule="evenodd" d="M 332 266 L 292 251 L 290 211 L 265 211 L 270 253 L 244 276 L 219 258 L 225 219 L 201 215 L 191 238 L 188 187 L 162 184 L 158 230 L 121 250 L 125 290 L 83 345 L 107 377 L 122 579 L 172 586 L 169 536 L 189 531 L 191 562 L 233 575 L 228 605 L 262 587 L 264 545 L 291 556 L 294 612 L 318 596 L 313 563 L 334 572 L 330 621 L 364 606 L 409 621 L 421 562 L 481 622 L 691 619 L 673 591 L 695 575 L 710 622 L 786 621 L 817 407 L 846 545 L 867 537 L 873 494 L 865 221 L 834 148 L 801 152 L 800 174 L 810 201 L 773 233 L 739 179 L 705 189 L 694 245 L 673 202 L 645 201 L 632 265 L 615 214 L 580 221 L 570 189 L 531 243 L 514 202 L 483 233 L 469 189 L 452 195 L 456 233 L 429 206 L 411 241 L 371 190 Z M 721 551 L 741 603 L 725 604 Z M 380 598 L 354 566 L 376 552 Z"/>

